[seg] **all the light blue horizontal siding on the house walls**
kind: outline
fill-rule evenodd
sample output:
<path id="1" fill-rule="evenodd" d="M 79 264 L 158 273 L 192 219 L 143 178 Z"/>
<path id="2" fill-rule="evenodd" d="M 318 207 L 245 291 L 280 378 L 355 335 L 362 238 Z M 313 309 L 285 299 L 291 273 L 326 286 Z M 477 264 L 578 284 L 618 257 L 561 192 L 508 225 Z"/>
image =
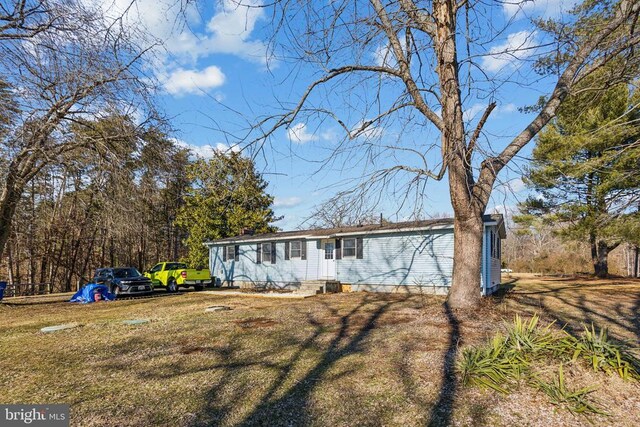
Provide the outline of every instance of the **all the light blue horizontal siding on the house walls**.
<path id="1" fill-rule="evenodd" d="M 485 226 L 482 244 L 482 291 L 491 293 L 500 282 L 500 260 L 491 258 L 490 231 Z M 332 279 L 355 286 L 355 289 L 393 290 L 409 287 L 434 287 L 446 292 L 453 272 L 453 229 L 404 231 L 345 236 L 361 237 L 363 258 L 343 257 L 335 260 Z M 292 239 L 296 240 L 296 239 Z M 239 259 L 223 261 L 224 246 L 210 245 L 210 269 L 223 282 L 260 284 L 273 287 L 299 285 L 304 281 L 325 279 L 323 244 L 334 239 L 310 238 L 307 259 L 284 259 L 284 240 L 276 241 L 276 263 L 263 260 L 257 264 L 257 243 L 239 244 Z M 262 242 L 270 244 L 271 242 Z"/>

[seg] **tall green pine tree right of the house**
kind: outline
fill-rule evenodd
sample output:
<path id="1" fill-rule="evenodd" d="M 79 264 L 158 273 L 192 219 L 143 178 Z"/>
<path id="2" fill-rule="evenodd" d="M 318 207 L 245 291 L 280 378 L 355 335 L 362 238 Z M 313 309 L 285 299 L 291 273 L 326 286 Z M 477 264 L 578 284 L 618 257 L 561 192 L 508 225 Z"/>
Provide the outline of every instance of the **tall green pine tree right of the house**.
<path id="1" fill-rule="evenodd" d="M 608 275 L 609 252 L 625 240 L 640 192 L 638 93 L 618 84 L 591 90 L 594 76 L 539 134 L 525 182 L 538 198 L 521 204 L 527 223 L 541 215 L 569 240 L 588 241 L 594 273 Z"/>

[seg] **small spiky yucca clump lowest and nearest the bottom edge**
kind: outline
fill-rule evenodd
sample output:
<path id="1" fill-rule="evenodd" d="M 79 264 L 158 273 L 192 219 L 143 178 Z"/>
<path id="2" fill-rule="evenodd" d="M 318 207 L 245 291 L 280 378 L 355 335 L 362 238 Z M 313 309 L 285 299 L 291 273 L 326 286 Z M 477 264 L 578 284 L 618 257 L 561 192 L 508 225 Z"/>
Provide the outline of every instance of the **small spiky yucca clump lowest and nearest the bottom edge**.
<path id="1" fill-rule="evenodd" d="M 585 387 L 579 390 L 570 390 L 564 379 L 562 364 L 558 369 L 558 376 L 552 382 L 545 382 L 539 378 L 532 381 L 535 388 L 547 395 L 549 401 L 554 405 L 560 405 L 569 410 L 572 414 L 587 415 L 600 414 L 607 415 L 602 409 L 598 408 L 595 403 L 588 399 L 588 395 L 595 391 L 594 388 Z"/>

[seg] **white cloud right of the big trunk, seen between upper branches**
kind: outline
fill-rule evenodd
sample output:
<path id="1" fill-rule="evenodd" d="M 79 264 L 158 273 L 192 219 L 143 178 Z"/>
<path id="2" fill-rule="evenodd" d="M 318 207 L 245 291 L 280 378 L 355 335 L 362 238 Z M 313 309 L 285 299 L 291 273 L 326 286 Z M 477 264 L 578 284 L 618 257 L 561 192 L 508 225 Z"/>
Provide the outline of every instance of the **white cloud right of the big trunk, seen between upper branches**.
<path id="1" fill-rule="evenodd" d="M 482 58 L 485 71 L 500 71 L 504 68 L 517 68 L 519 62 L 533 55 L 536 46 L 535 31 L 519 31 L 509 34 L 507 40 L 492 47 Z"/>

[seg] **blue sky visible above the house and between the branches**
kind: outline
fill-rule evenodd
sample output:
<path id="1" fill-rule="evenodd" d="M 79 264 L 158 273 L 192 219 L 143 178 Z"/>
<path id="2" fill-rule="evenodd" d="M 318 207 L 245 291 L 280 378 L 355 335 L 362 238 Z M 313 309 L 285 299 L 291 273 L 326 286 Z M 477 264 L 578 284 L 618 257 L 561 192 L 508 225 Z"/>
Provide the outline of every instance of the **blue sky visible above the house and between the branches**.
<path id="1" fill-rule="evenodd" d="M 129 0 L 104 0 L 103 7 L 117 14 L 129 3 Z M 260 6 L 262 0 L 244 3 Z M 489 79 L 504 81 L 497 90 L 491 91 L 491 99 L 495 99 L 498 107 L 486 127 L 485 150 L 495 151 L 517 134 L 531 119 L 518 108 L 535 103 L 540 95 L 549 91 L 552 81 L 538 80 L 529 68 L 531 59 L 539 52 L 537 46 L 544 41 L 533 29 L 530 18 L 559 17 L 567 3 L 562 0 L 496 2 L 495 7 L 485 11 L 491 28 L 483 35 L 487 37 L 482 49 L 472 54 L 478 55 L 476 63 Z M 180 144 L 192 149 L 194 155 L 207 157 L 213 150 L 229 149 L 250 123 L 293 105 L 314 77 L 319 76 L 319 70 L 311 66 L 278 59 L 283 53 L 279 47 L 275 48 L 275 57 L 270 57 L 273 45 L 269 43 L 272 22 L 268 10 L 238 6 L 233 0 L 208 6 L 200 4 L 197 8 L 191 5 L 180 9 L 179 6 L 175 0 L 138 0 L 129 9 L 127 19 L 132 25 L 147 28 L 164 43 L 162 49 L 155 51 L 150 68 L 160 82 L 161 107 L 172 118 L 175 137 Z M 497 30 L 506 23 L 510 23 L 506 31 Z M 385 55 L 387 52 L 385 45 L 380 44 L 364 59 L 372 63 L 392 61 Z M 475 71 L 469 76 L 478 77 Z M 523 87 L 510 79 L 526 84 Z M 381 84 L 393 93 L 393 83 Z M 325 90 L 322 96 L 312 98 L 312 102 L 317 101 L 319 105 L 322 99 L 329 99 L 328 104 L 345 118 L 345 124 L 353 131 L 368 118 L 367 113 L 371 114 L 364 110 L 368 101 L 365 98 L 374 96 L 367 90 L 362 88 L 357 96 L 358 89 L 353 93 L 340 88 Z M 478 120 L 488 102 L 481 92 L 470 92 L 466 97 L 465 118 L 470 125 Z M 355 111 L 359 108 L 361 111 Z M 275 196 L 276 214 L 284 216 L 277 226 L 285 230 L 296 228 L 314 206 L 340 190 L 353 188 L 363 176 L 380 167 L 420 165 L 420 159 L 410 152 L 384 147 L 402 146 L 424 152 L 426 141 L 439 138 L 422 123 L 404 127 L 398 122 L 373 125 L 351 141 L 343 140 L 344 136 L 344 130 L 335 122 L 321 120 L 317 115 L 300 116 L 287 129 L 276 131 L 256 156 L 258 169 L 269 182 L 268 192 Z M 376 141 L 375 144 L 369 145 L 369 138 Z M 344 154 L 335 162 L 320 163 L 336 149 Z M 530 150 L 531 145 L 522 157 L 526 158 Z M 430 163 L 437 162 L 437 158 L 437 152 L 426 155 Z M 526 191 L 519 177 L 523 163 L 524 160 L 515 162 L 501 172 L 489 211 L 513 206 L 524 197 Z M 404 188 L 402 181 L 408 178 L 402 175 L 391 186 L 400 192 Z M 397 199 L 383 193 L 374 194 L 372 197 L 380 199 L 376 212 L 391 220 L 409 218 L 418 205 L 421 217 L 451 213 L 446 179 L 429 180 L 420 188 L 419 203 L 413 198 L 402 208 Z"/>

